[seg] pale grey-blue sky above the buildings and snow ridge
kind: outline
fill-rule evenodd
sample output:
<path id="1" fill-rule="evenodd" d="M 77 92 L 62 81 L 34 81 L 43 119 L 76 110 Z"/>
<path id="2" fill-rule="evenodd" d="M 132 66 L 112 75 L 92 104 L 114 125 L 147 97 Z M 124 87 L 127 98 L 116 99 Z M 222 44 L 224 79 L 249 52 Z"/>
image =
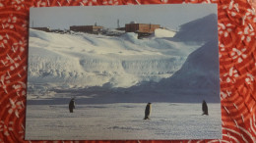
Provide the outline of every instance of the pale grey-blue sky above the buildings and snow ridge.
<path id="1" fill-rule="evenodd" d="M 97 24 L 115 28 L 119 20 L 121 27 L 136 22 L 177 30 L 181 24 L 217 13 L 217 4 L 43 7 L 31 8 L 30 26 L 69 29 L 71 25 Z"/>

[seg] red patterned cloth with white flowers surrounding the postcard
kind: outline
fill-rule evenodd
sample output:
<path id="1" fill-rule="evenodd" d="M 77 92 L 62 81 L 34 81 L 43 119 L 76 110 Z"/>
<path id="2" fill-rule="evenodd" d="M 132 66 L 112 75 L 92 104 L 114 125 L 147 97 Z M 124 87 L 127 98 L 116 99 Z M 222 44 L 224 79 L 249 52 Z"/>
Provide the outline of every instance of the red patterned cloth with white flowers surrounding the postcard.
<path id="1" fill-rule="evenodd" d="M 30 7 L 167 3 L 218 3 L 223 139 L 125 142 L 256 142 L 256 17 L 251 0 L 0 0 L 0 142 L 124 142 L 24 140 Z"/>

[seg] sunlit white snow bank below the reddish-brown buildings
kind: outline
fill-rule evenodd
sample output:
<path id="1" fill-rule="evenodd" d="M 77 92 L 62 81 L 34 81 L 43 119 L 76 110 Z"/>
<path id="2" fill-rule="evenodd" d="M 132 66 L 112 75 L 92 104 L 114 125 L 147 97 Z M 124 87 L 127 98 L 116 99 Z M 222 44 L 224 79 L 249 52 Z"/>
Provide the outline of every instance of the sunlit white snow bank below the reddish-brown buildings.
<path id="1" fill-rule="evenodd" d="M 139 40 L 135 33 L 109 37 L 30 29 L 29 82 L 129 87 L 141 81 L 159 81 L 179 70 L 198 47 L 163 38 Z"/>

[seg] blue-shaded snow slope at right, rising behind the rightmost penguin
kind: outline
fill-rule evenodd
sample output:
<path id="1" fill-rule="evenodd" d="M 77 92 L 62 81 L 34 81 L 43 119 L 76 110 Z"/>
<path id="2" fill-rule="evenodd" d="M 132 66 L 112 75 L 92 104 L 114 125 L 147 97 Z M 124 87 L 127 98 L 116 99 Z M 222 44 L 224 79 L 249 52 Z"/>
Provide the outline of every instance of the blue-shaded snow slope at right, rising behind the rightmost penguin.
<path id="1" fill-rule="evenodd" d="M 179 71 L 160 82 L 170 88 L 218 89 L 219 55 L 216 41 L 211 41 L 191 53 Z"/>

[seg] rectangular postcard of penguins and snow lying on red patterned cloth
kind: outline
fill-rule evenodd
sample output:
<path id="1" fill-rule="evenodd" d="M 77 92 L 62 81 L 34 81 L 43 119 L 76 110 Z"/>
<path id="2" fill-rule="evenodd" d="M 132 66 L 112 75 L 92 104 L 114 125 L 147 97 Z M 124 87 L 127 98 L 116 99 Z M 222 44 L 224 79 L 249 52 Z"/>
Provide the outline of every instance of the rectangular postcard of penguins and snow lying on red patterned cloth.
<path id="1" fill-rule="evenodd" d="M 31 8 L 26 139 L 222 138 L 217 12 Z"/>

